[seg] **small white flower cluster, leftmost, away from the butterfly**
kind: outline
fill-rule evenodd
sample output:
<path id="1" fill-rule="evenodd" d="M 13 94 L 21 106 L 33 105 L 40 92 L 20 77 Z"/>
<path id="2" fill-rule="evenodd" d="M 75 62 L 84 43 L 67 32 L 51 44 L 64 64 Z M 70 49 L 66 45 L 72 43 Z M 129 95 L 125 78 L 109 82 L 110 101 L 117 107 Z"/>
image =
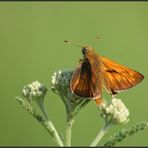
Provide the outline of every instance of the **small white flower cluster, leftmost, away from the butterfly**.
<path id="1" fill-rule="evenodd" d="M 38 81 L 35 81 L 27 86 L 24 86 L 22 93 L 23 96 L 32 99 L 45 95 L 46 91 L 47 88 L 44 85 L 42 85 Z"/>

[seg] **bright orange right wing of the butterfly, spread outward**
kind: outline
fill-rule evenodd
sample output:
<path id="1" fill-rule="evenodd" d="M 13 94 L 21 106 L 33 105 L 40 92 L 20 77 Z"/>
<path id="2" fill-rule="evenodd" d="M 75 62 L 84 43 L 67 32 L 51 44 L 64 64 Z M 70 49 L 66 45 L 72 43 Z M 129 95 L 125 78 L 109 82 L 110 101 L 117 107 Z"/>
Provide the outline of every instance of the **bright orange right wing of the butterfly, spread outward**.
<path id="1" fill-rule="evenodd" d="M 121 90 L 129 89 L 140 83 L 144 76 L 105 57 L 100 57 L 106 89 L 115 95 Z"/>

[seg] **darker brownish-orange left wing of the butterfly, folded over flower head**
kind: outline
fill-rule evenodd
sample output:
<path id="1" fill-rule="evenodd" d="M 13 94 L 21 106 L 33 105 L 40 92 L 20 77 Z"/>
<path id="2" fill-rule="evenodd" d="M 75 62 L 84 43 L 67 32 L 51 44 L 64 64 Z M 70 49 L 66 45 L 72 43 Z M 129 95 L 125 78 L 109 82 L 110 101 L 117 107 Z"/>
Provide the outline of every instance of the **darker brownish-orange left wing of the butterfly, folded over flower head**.
<path id="1" fill-rule="evenodd" d="M 83 60 L 79 63 L 72 76 L 70 88 L 74 94 L 80 97 L 99 98 L 101 91 L 97 87 L 98 82 L 98 77 L 94 74 L 90 63 Z"/>

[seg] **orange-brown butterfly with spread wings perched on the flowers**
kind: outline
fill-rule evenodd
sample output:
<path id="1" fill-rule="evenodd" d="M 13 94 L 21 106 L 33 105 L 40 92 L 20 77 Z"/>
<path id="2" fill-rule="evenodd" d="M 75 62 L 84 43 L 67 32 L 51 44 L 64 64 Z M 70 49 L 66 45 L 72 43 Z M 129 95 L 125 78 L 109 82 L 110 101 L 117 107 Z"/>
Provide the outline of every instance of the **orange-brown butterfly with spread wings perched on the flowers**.
<path id="1" fill-rule="evenodd" d="M 103 86 L 113 96 L 135 86 L 144 78 L 135 70 L 99 56 L 90 46 L 82 47 L 82 54 L 83 59 L 73 73 L 70 88 L 74 94 L 92 98 L 97 104 L 102 101 Z"/>

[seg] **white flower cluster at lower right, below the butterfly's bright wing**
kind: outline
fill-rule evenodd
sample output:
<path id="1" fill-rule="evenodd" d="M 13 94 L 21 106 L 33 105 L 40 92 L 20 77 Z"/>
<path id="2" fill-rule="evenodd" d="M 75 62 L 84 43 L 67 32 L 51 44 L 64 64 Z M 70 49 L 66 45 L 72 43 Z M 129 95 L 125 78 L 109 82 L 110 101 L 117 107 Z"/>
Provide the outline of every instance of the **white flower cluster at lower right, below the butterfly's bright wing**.
<path id="1" fill-rule="evenodd" d="M 113 98 L 110 103 L 104 101 L 100 105 L 100 109 L 102 111 L 102 116 L 105 119 L 123 124 L 126 124 L 129 121 L 129 110 L 120 99 Z"/>

